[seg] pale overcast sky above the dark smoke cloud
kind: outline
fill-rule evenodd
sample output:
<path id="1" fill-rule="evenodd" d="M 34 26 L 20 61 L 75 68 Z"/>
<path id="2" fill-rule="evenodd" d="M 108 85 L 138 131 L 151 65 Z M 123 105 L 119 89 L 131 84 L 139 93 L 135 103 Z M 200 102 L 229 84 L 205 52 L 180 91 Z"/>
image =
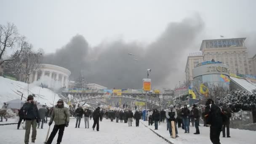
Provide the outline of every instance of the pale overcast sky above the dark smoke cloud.
<path id="1" fill-rule="evenodd" d="M 116 38 L 148 44 L 168 23 L 195 13 L 205 22 L 202 39 L 237 37 L 256 31 L 255 5 L 255 0 L 3 0 L 0 24 L 13 22 L 35 48 L 50 53 L 76 34 L 92 47 Z"/>

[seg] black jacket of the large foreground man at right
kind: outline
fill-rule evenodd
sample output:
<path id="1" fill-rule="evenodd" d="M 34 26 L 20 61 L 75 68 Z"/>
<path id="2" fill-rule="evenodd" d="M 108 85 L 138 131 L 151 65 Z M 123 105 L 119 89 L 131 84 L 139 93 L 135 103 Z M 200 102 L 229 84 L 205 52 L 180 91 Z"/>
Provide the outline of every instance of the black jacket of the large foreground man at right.
<path id="1" fill-rule="evenodd" d="M 205 107 L 205 120 L 206 124 L 215 126 L 217 128 L 222 128 L 222 113 L 221 108 L 216 106 L 216 104 L 210 104 Z M 221 129 L 219 129 L 221 131 Z"/>

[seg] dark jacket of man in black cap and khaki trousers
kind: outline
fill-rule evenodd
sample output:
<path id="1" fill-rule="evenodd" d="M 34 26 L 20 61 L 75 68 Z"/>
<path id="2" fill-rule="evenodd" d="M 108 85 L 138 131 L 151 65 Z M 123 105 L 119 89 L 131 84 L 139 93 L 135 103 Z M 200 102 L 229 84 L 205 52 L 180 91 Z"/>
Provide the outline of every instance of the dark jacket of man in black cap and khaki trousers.
<path id="1" fill-rule="evenodd" d="M 23 114 L 26 120 L 35 120 L 40 118 L 37 105 L 28 102 L 23 104 Z"/>

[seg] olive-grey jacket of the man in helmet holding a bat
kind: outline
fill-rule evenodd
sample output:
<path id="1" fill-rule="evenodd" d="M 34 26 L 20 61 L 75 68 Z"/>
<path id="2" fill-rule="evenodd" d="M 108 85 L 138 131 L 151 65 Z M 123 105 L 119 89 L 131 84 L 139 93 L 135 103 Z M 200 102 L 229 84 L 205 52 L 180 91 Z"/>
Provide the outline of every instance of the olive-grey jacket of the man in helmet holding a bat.
<path id="1" fill-rule="evenodd" d="M 50 122 L 52 123 L 53 120 L 54 120 L 55 125 L 63 125 L 65 123 L 69 122 L 68 108 L 64 107 L 64 105 L 61 105 L 61 106 L 56 105 L 53 108 Z"/>

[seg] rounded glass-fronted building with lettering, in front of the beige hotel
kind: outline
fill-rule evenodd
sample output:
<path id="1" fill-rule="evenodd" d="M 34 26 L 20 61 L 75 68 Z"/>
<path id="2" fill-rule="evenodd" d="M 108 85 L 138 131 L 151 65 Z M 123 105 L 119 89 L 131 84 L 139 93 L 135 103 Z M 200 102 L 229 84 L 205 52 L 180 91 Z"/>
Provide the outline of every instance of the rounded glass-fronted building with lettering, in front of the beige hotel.
<path id="1" fill-rule="evenodd" d="M 220 61 L 204 61 L 193 69 L 196 99 L 206 99 L 212 91 L 229 91 L 229 67 Z M 212 93 L 211 93 L 212 94 Z"/>

